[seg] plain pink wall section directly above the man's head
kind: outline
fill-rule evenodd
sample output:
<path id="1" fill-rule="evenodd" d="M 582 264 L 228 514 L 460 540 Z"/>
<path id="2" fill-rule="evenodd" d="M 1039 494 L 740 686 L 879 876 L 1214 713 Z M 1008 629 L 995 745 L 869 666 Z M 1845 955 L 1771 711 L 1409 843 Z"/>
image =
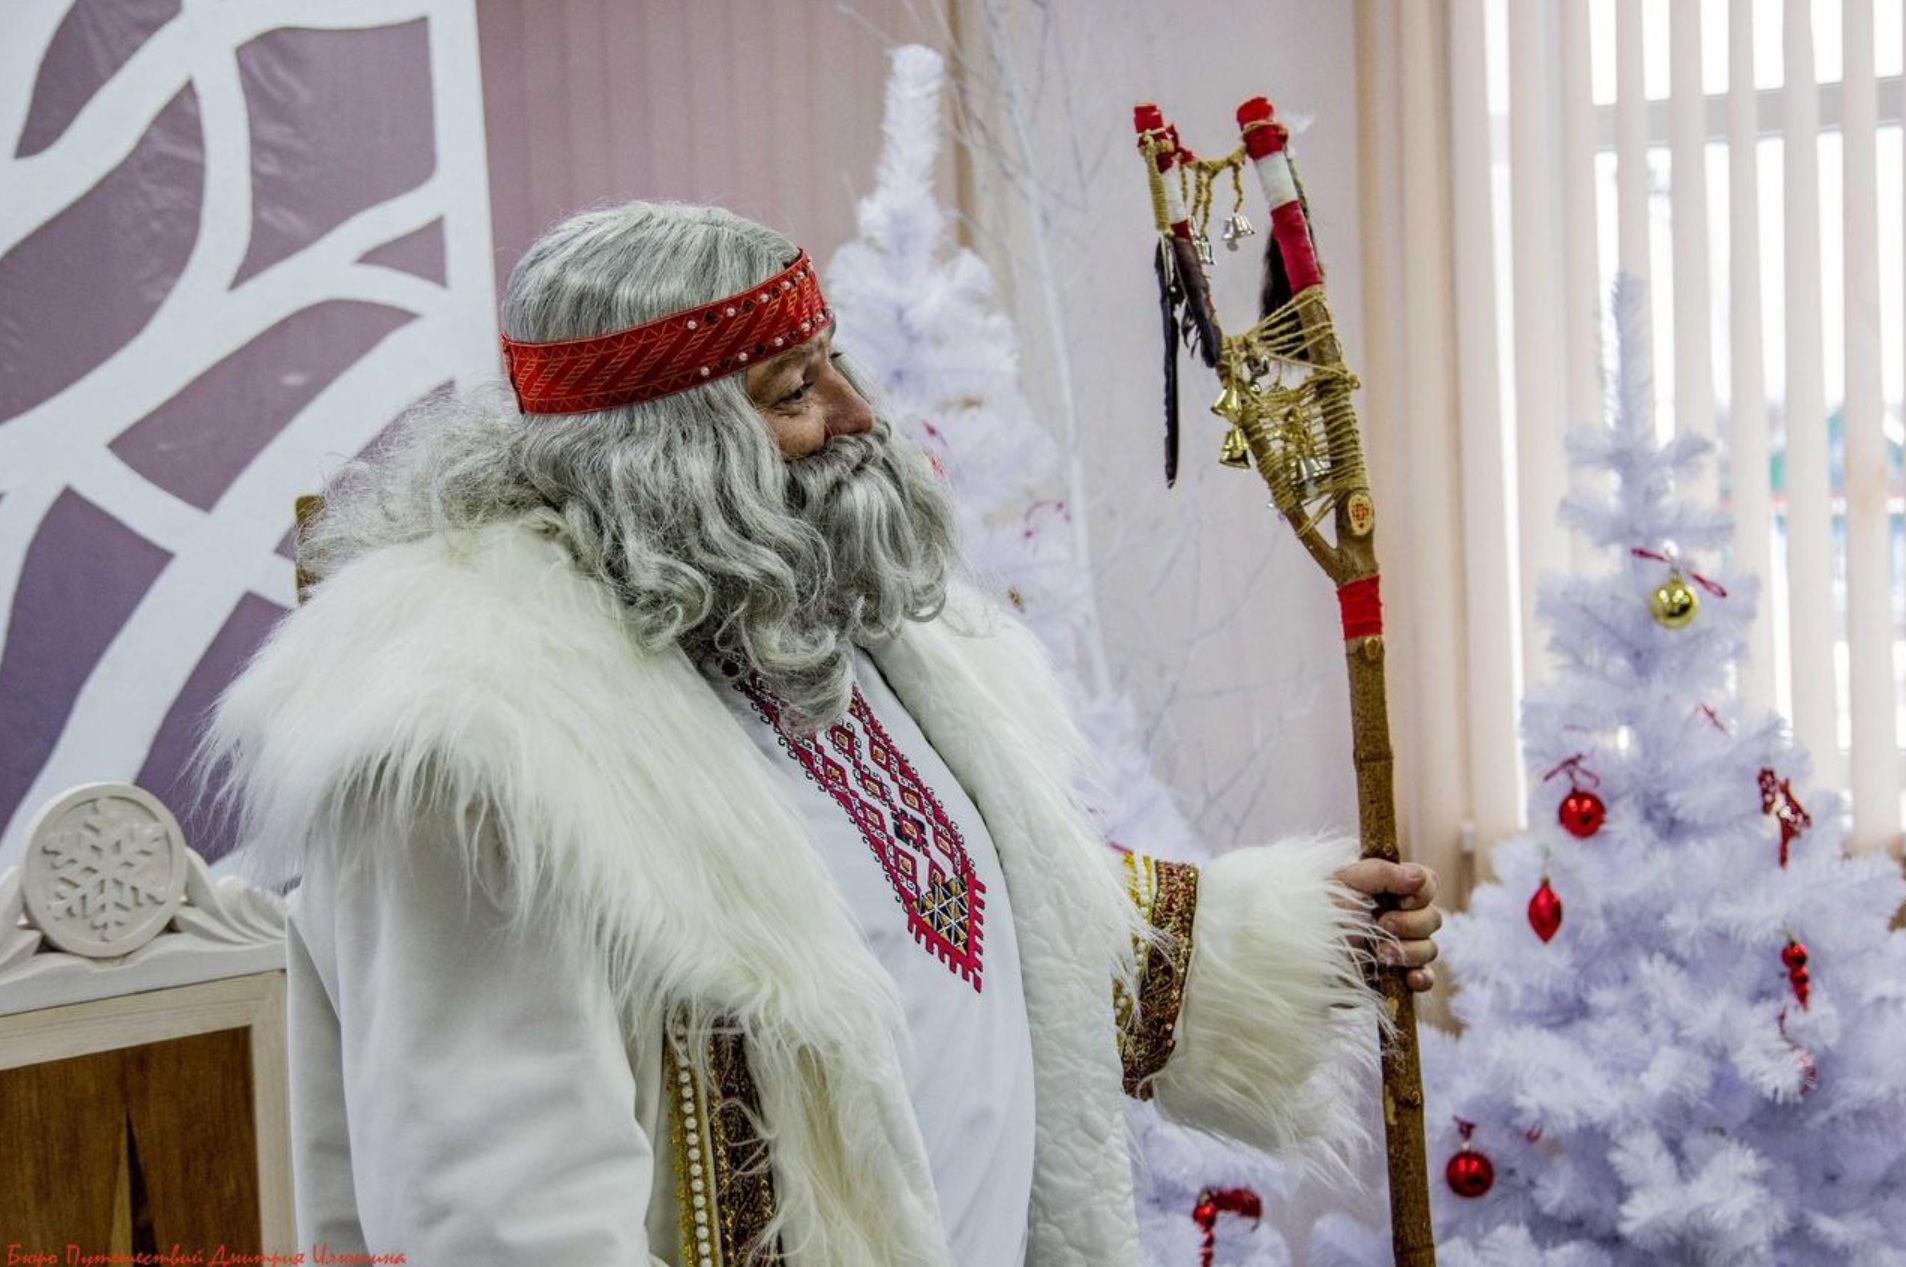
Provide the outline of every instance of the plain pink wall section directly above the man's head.
<path id="1" fill-rule="evenodd" d="M 936 11 L 476 0 L 497 276 L 555 219 L 627 198 L 717 202 L 827 259 L 873 183 L 886 48 L 938 44 Z"/>

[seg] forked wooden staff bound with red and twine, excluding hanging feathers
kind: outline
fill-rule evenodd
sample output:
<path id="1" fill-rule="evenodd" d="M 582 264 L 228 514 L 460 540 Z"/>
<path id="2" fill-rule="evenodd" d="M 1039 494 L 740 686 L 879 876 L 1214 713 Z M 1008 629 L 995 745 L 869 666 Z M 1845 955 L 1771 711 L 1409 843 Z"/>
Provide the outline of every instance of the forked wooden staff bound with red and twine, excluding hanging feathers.
<path id="1" fill-rule="evenodd" d="M 1144 124 L 1153 118 L 1157 126 L 1147 133 Z M 1151 158 L 1163 141 L 1163 116 L 1155 107 L 1151 114 L 1142 107 L 1134 112 L 1134 122 L 1140 124 L 1140 151 Z M 1384 682 L 1376 507 L 1370 501 L 1357 413 L 1349 398 L 1357 383 L 1344 366 L 1330 322 L 1302 189 L 1287 152 L 1288 133 L 1264 97 L 1241 105 L 1237 122 L 1243 131 L 1239 151 L 1220 160 L 1180 164 L 1197 168 L 1206 191 L 1199 204 L 1208 213 L 1210 179 L 1248 162 L 1271 211 L 1262 320 L 1241 335 L 1220 335 L 1218 377 L 1224 394 L 1212 412 L 1231 423 L 1227 465 L 1248 461 L 1258 469 L 1279 514 L 1336 583 L 1344 663 L 1349 673 L 1363 855 L 1393 863 L 1399 861 L 1397 810 Z M 1176 147 L 1176 135 L 1170 143 Z M 1157 185 L 1157 164 L 1147 162 L 1147 171 Z M 1155 189 L 1153 204 L 1159 202 Z M 1161 225 L 1161 231 L 1168 227 Z M 1189 225 L 1189 231 L 1201 234 L 1203 225 Z M 1208 293 L 1201 274 L 1186 290 Z M 1332 520 L 1334 541 L 1321 532 L 1325 518 Z M 1405 979 L 1407 972 L 1399 964 L 1374 974 L 1391 1019 L 1382 1036 L 1391 1252 L 1397 1267 L 1433 1267 L 1416 1000 Z"/>

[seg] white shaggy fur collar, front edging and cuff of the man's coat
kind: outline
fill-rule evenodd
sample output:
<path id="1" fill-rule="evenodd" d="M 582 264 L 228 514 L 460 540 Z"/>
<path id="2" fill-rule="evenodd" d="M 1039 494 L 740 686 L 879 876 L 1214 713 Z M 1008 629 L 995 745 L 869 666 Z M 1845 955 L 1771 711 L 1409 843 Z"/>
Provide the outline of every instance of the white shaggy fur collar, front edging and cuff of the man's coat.
<path id="1" fill-rule="evenodd" d="M 875 655 L 985 815 L 1012 894 L 1035 1057 L 1029 1263 L 1138 1263 L 1111 1006 L 1136 916 L 1081 814 L 1083 745 L 1041 650 L 959 606 Z M 469 876 L 602 964 L 631 1050 L 663 1006 L 736 1017 L 795 1261 L 947 1261 L 902 1014 L 823 863 L 709 684 L 679 652 L 640 650 L 558 543 L 496 526 L 345 568 L 227 692 L 213 743 L 280 875 L 313 842 L 404 840 L 435 806 L 465 827 Z M 1357 918 L 1332 901 L 1340 861 L 1308 844 L 1206 869 L 1155 1082 L 1168 1116 L 1266 1147 L 1348 1136 L 1340 1075 L 1369 1063 L 1374 1021 Z"/>

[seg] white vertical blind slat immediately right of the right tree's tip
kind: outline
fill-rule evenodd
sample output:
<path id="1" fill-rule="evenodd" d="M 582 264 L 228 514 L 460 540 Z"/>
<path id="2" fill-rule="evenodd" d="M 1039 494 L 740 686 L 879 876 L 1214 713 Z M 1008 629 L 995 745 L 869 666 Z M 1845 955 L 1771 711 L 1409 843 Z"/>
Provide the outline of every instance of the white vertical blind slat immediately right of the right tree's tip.
<path id="1" fill-rule="evenodd" d="M 1713 333 L 1708 328 L 1708 99 L 1700 82 L 1700 0 L 1668 11 L 1668 162 L 1673 200 L 1673 427 L 1713 440 Z M 1719 463 L 1687 490 L 1721 501 Z"/>

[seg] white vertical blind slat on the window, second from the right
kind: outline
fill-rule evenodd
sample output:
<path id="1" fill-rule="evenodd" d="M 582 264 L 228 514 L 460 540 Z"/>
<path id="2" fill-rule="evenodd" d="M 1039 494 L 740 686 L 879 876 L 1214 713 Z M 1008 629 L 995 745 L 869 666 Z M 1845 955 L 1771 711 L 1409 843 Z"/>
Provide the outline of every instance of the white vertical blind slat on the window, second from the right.
<path id="1" fill-rule="evenodd" d="M 1794 735 L 1828 785 L 1843 787 L 1834 674 L 1834 541 L 1820 349 L 1820 90 L 1813 6 L 1786 0 L 1782 185 L 1786 192 L 1788 659 Z"/>

